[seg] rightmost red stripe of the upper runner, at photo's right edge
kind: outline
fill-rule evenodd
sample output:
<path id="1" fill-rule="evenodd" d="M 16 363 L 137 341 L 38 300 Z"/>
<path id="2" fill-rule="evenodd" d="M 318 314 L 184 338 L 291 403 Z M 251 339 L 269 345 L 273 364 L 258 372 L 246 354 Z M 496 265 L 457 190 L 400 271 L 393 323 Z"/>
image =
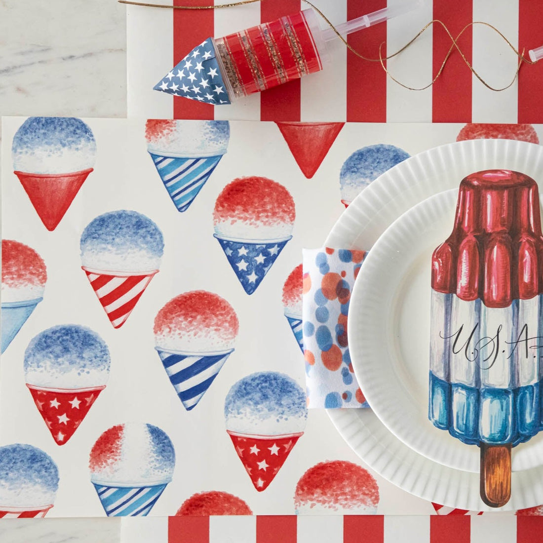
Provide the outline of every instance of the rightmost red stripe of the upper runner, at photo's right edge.
<path id="1" fill-rule="evenodd" d="M 543 45 L 543 2 L 519 0 L 519 49 Z M 543 123 L 543 60 L 519 72 L 519 123 Z"/>

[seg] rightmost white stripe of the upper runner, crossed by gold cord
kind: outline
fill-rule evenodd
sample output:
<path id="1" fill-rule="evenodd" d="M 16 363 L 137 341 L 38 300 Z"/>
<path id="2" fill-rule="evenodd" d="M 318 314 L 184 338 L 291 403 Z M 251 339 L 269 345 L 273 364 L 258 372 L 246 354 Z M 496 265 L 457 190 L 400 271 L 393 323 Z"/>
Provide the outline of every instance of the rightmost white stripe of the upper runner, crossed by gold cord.
<path id="1" fill-rule="evenodd" d="M 519 3 L 473 0 L 473 21 L 492 24 L 516 47 L 519 42 Z M 495 88 L 509 85 L 517 66 L 517 56 L 506 42 L 488 27 L 473 26 L 473 67 Z M 467 67 L 466 67 L 467 69 Z M 487 89 L 475 75 L 472 78 L 472 121 L 475 123 L 516 123 L 517 82 L 506 91 Z"/>

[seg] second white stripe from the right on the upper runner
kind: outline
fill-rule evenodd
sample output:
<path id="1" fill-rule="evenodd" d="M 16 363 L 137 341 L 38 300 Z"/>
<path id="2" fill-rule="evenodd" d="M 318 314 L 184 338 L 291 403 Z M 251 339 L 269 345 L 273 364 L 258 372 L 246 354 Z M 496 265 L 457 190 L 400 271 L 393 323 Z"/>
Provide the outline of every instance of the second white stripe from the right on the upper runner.
<path id="1" fill-rule="evenodd" d="M 389 7 L 408 0 L 388 0 Z M 395 53 L 413 39 L 432 20 L 432 2 L 387 21 L 387 46 L 383 54 Z M 362 30 L 364 31 L 364 30 Z M 413 88 L 432 81 L 432 30 L 428 29 L 409 48 L 387 61 L 390 73 L 402 84 Z M 377 47 L 375 58 L 378 56 Z M 373 49 L 372 49 L 373 50 Z M 432 87 L 424 91 L 404 89 L 387 77 L 387 122 L 432 122 Z"/>

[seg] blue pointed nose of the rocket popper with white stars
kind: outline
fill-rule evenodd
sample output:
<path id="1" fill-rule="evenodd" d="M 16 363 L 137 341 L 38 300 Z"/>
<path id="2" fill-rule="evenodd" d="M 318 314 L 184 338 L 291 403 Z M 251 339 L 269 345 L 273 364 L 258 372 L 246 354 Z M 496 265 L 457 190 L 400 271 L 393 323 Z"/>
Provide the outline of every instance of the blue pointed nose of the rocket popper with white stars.
<path id="1" fill-rule="evenodd" d="M 220 73 L 213 38 L 200 43 L 153 89 L 173 96 L 198 100 L 204 104 L 230 104 L 228 92 Z"/>

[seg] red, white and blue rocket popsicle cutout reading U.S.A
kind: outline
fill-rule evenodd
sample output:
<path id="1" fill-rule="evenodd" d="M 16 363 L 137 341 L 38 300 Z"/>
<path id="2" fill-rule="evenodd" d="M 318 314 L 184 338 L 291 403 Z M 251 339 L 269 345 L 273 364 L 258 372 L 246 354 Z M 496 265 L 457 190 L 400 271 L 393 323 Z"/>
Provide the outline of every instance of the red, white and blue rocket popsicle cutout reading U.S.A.
<path id="1" fill-rule="evenodd" d="M 460 184 L 432 256 L 430 420 L 481 447 L 481 498 L 510 496 L 511 447 L 540 431 L 543 237 L 538 186 L 487 170 Z"/>

